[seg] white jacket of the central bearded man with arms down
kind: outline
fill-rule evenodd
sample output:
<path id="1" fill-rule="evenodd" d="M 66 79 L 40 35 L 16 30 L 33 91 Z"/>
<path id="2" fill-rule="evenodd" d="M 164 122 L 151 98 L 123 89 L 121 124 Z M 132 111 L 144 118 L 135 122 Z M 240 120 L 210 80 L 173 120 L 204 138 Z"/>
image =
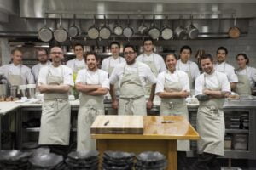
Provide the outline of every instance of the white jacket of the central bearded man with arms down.
<path id="1" fill-rule="evenodd" d="M 115 82 L 119 81 L 120 85 L 120 80 L 122 79 L 124 74 L 124 68 L 125 73 L 134 73 L 137 72 L 137 65 L 138 76 L 140 77 L 143 87 L 145 86 L 146 81 L 151 82 L 152 84 L 156 83 L 156 77 L 154 77 L 154 74 L 149 66 L 139 61 L 136 61 L 132 65 L 127 65 L 126 62 L 116 65 L 116 67 L 113 69 L 111 77 L 109 78 L 110 83 L 114 84 Z"/>

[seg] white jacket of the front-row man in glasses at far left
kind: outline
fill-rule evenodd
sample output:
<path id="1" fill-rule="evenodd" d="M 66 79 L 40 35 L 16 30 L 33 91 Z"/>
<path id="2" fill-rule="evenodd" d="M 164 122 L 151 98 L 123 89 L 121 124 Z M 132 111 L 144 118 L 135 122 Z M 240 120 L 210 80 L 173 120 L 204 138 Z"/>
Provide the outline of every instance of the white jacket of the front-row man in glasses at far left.
<path id="1" fill-rule="evenodd" d="M 73 86 L 73 71 L 66 65 L 60 65 L 54 67 L 53 65 L 47 65 L 40 69 L 38 75 L 38 85 L 39 83 L 47 84 L 46 77 L 48 74 L 56 77 L 63 77 L 63 84 Z"/>

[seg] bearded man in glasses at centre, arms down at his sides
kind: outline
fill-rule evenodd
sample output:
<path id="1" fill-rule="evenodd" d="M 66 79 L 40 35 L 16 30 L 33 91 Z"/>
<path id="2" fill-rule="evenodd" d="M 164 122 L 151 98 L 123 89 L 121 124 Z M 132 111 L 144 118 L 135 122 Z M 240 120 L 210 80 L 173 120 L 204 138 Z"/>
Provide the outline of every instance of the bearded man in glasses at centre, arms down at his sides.
<path id="1" fill-rule="evenodd" d="M 148 65 L 137 61 L 135 48 L 127 45 L 124 48 L 125 63 L 116 65 L 109 78 L 110 94 L 113 100 L 113 108 L 118 108 L 119 115 L 147 115 L 144 87 L 146 82 L 151 82 L 151 94 L 147 102 L 147 108 L 153 106 L 154 88 L 156 77 Z M 114 84 L 119 81 L 119 101 L 114 92 Z"/>

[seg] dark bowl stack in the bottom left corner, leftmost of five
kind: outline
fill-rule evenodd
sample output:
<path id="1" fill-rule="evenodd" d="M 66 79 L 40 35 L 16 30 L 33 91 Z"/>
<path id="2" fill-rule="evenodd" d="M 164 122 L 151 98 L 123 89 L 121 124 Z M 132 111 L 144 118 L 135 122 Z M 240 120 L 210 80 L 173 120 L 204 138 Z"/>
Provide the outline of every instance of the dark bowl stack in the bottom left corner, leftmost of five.
<path id="1" fill-rule="evenodd" d="M 0 150 L 0 169 L 26 170 L 31 152 L 20 150 Z"/>

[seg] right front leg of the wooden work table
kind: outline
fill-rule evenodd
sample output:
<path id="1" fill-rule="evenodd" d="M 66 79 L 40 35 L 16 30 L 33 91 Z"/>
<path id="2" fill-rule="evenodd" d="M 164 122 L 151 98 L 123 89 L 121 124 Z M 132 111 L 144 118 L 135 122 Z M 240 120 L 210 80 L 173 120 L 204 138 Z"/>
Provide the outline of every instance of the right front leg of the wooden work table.
<path id="1" fill-rule="evenodd" d="M 168 142 L 168 170 L 177 170 L 177 140 Z"/>

